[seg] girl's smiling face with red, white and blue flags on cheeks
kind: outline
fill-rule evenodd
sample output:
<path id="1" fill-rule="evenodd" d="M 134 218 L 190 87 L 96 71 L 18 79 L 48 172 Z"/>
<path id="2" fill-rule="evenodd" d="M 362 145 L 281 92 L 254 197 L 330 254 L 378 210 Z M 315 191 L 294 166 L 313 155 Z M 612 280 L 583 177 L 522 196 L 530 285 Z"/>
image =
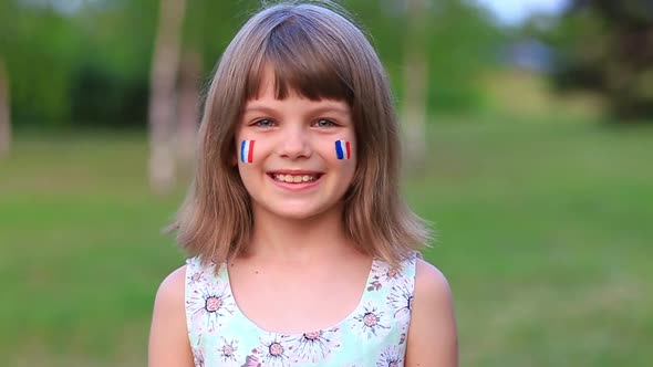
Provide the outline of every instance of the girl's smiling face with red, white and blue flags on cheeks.
<path id="1" fill-rule="evenodd" d="M 277 99 L 272 72 L 263 76 L 236 130 L 238 170 L 255 214 L 307 219 L 341 210 L 356 167 L 349 105 L 293 91 Z"/>

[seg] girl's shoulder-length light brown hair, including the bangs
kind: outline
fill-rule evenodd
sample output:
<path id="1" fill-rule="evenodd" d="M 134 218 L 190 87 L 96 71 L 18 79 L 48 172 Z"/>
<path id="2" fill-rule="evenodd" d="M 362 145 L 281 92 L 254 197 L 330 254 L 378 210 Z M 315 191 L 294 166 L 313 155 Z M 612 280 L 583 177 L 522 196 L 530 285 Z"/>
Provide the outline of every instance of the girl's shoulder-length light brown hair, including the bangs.
<path id="1" fill-rule="evenodd" d="M 400 198 L 401 149 L 385 71 L 363 32 L 328 1 L 265 8 L 227 46 L 206 97 L 196 178 L 170 226 L 179 247 L 218 263 L 247 249 L 253 218 L 234 164 L 235 132 L 265 67 L 274 73 L 278 98 L 297 91 L 349 103 L 357 166 L 343 198 L 344 228 L 359 250 L 398 266 L 429 231 Z"/>

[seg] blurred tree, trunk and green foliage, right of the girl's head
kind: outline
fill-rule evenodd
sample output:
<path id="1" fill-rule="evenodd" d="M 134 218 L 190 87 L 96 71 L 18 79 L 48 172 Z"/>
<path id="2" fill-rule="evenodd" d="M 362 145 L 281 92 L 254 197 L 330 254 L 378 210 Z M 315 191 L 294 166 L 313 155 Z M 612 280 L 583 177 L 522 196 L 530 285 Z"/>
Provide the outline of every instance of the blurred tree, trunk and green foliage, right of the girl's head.
<path id="1" fill-rule="evenodd" d="M 351 0 L 400 96 L 407 168 L 427 156 L 426 124 L 442 112 L 483 108 L 479 76 L 504 40 L 489 15 L 460 0 Z"/>

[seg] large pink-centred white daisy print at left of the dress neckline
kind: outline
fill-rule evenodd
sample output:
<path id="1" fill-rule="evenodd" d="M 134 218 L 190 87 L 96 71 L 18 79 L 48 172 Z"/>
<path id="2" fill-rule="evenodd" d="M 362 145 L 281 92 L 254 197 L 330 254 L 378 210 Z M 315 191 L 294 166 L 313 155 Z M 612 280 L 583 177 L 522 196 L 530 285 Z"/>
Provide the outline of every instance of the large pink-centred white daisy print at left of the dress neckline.
<path id="1" fill-rule="evenodd" d="M 196 286 L 186 301 L 193 324 L 198 331 L 214 333 L 225 322 L 224 318 L 234 314 L 236 304 L 229 295 L 227 284 L 206 282 Z"/>

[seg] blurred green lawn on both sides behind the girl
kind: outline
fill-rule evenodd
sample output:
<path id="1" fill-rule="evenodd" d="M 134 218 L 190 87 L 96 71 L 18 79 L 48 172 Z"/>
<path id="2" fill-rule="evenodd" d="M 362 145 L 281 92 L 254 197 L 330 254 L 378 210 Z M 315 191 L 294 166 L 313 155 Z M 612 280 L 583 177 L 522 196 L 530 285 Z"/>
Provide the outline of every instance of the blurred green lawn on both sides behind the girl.
<path id="1" fill-rule="evenodd" d="M 543 119 L 543 118 L 541 118 Z M 462 366 L 647 366 L 653 128 L 439 120 L 405 182 L 435 223 Z M 19 135 L 0 160 L 0 355 L 7 366 L 142 366 L 160 234 L 138 134 Z"/>

